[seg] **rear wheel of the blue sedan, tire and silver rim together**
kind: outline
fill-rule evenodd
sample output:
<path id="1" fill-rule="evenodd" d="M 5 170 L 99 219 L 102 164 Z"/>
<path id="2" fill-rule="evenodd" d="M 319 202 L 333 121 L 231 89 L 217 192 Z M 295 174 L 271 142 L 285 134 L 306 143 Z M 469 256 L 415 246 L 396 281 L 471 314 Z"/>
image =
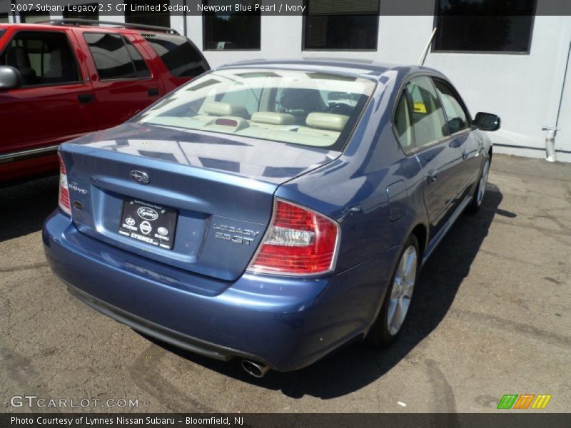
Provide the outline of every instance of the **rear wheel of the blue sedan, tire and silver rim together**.
<path id="1" fill-rule="evenodd" d="M 411 235 L 403 245 L 383 307 L 367 335 L 372 345 L 388 345 L 402 330 L 418 276 L 418 254 L 418 240 Z"/>

